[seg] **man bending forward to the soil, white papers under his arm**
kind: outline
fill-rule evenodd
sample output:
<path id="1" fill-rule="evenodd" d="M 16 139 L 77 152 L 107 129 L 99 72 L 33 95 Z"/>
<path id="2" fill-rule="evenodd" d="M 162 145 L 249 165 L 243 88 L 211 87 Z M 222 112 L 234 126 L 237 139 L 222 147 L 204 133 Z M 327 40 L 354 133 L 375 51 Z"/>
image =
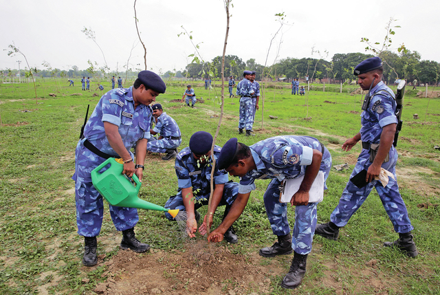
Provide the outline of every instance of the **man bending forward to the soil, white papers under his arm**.
<path id="1" fill-rule="evenodd" d="M 331 155 L 316 138 L 308 136 L 276 136 L 257 142 L 252 146 L 231 138 L 225 143 L 219 155 L 219 169 L 230 175 L 241 177 L 236 202 L 219 227 L 212 231 L 209 241 L 221 241 L 225 228 L 241 215 L 252 190 L 255 179 L 272 179 L 263 196 L 267 218 L 278 241 L 272 247 L 260 250 L 264 257 L 286 255 L 294 252 L 289 272 L 283 278 L 282 286 L 293 289 L 300 285 L 305 275 L 307 255 L 316 226 L 316 206 L 309 203 L 309 190 L 319 171 L 324 179 L 329 176 Z M 295 208 L 294 239 L 290 235 L 287 220 L 287 204 L 280 202 L 280 185 L 286 178 L 304 175 L 300 188 L 290 201 Z M 322 190 L 327 189 L 324 182 Z"/>

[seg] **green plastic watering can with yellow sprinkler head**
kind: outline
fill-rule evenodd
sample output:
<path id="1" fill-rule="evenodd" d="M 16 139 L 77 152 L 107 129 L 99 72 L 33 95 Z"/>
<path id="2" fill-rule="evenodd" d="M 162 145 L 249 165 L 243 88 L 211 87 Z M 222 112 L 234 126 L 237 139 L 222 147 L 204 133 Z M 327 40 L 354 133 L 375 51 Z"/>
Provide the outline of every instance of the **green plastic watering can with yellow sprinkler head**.
<path id="1" fill-rule="evenodd" d="M 124 165 L 118 160 L 110 157 L 91 171 L 91 182 L 102 197 L 112 206 L 164 211 L 175 218 L 179 209 L 169 210 L 137 197 L 142 182 L 136 175 L 133 175 L 132 182 L 129 177 L 122 174 Z M 100 170 L 107 165 L 110 165 L 110 168 L 100 173 Z"/>

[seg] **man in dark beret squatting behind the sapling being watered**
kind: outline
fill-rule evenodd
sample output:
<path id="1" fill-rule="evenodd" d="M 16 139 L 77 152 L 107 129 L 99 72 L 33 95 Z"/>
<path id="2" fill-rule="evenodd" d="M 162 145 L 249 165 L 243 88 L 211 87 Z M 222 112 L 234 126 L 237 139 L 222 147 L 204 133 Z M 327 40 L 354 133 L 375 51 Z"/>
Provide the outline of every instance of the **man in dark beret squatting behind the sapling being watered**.
<path id="1" fill-rule="evenodd" d="M 186 232 L 189 237 L 195 237 L 197 231 L 197 221 L 200 219 L 200 213 L 197 212 L 197 209 L 203 205 L 208 205 L 210 198 L 211 146 L 212 135 L 210 133 L 198 131 L 191 136 L 190 146 L 180 151 L 175 162 L 179 184 L 177 195 L 170 197 L 164 206 L 167 209 L 179 209 L 187 212 Z M 216 160 L 220 151 L 220 146 L 214 146 L 213 157 Z M 228 173 L 219 171 L 216 166 L 214 169 L 214 193 L 212 194 L 211 207 L 208 208 L 208 213 L 199 228 L 202 235 L 206 234 L 207 228 L 212 226 L 212 218 L 217 206 L 225 206 L 223 219 L 228 215 L 238 191 L 239 184 L 232 181 L 228 182 Z M 165 215 L 166 218 L 174 220 L 168 213 L 165 213 Z M 238 241 L 232 229 L 232 223 L 225 230 L 224 237 L 230 243 Z"/>

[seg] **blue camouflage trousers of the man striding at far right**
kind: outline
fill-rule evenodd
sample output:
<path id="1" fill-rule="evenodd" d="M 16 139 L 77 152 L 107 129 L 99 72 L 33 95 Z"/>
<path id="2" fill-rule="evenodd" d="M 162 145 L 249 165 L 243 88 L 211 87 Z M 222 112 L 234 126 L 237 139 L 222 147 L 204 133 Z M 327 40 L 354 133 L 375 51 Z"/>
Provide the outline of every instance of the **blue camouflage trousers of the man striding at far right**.
<path id="1" fill-rule="evenodd" d="M 394 147 L 391 148 L 389 156 L 390 160 L 382 164 L 382 168 L 393 173 L 395 180 L 389 177 L 389 182 L 386 187 L 383 187 L 379 180 L 373 180 L 373 182 L 370 182 L 363 188 L 358 188 L 350 181 L 347 182 L 347 186 L 342 192 L 342 197 L 339 200 L 338 206 L 331 213 L 331 222 L 335 223 L 336 226 L 345 226 L 349 222 L 351 216 L 360 208 L 360 206 L 362 206 L 374 186 L 377 190 L 377 194 L 379 194 L 382 204 L 384 205 L 388 217 L 393 223 L 394 230 L 396 232 L 405 233 L 414 229 L 411 226 L 411 221 L 408 217 L 408 211 L 406 210 L 404 200 L 399 193 L 399 186 L 397 186 L 395 165 L 398 155 Z M 350 178 L 363 169 L 368 170 L 371 165 L 369 157 L 369 151 L 362 149 Z"/>

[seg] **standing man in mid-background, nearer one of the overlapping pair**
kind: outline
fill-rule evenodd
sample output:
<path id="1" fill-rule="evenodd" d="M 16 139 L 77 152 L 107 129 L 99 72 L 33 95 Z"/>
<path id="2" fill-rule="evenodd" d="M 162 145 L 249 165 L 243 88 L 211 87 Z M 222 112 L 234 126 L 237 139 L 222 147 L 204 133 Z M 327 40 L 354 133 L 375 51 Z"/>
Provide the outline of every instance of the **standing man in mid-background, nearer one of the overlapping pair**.
<path id="1" fill-rule="evenodd" d="M 252 94 L 255 93 L 252 88 L 252 83 L 250 83 L 250 75 L 252 72 L 244 71 L 243 80 L 239 82 L 236 87 L 236 95 L 240 96 L 240 120 L 239 120 L 239 134 L 243 133 L 243 128 L 246 129 L 246 135 L 253 135 L 250 133 L 252 130 L 253 111 L 252 111 Z"/>

